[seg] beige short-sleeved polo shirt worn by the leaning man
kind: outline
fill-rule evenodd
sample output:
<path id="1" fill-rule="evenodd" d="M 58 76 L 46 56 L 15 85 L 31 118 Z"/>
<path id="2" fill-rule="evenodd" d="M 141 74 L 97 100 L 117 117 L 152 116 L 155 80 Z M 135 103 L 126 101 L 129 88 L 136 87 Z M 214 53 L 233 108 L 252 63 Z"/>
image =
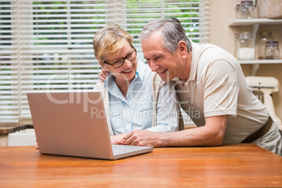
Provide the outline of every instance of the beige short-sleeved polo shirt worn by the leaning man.
<path id="1" fill-rule="evenodd" d="M 180 105 L 196 126 L 205 126 L 205 117 L 229 115 L 223 143 L 241 142 L 268 119 L 238 60 L 218 46 L 192 42 L 189 79 L 174 81 Z"/>

